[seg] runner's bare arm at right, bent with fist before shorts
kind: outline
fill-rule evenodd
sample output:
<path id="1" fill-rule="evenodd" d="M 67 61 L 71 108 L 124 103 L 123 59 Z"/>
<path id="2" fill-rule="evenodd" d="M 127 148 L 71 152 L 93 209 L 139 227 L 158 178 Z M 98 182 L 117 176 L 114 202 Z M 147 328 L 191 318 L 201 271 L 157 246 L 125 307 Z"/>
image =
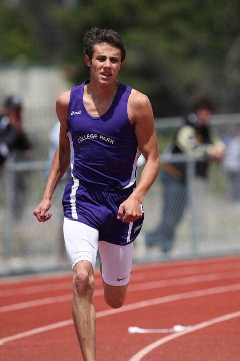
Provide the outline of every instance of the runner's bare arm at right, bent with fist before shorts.
<path id="1" fill-rule="evenodd" d="M 153 185 L 160 168 L 154 117 L 148 97 L 132 90 L 128 101 L 128 115 L 134 124 L 139 148 L 146 159 L 139 184 L 131 196 L 120 205 L 118 218 L 133 222 L 142 216 L 141 202 Z"/>

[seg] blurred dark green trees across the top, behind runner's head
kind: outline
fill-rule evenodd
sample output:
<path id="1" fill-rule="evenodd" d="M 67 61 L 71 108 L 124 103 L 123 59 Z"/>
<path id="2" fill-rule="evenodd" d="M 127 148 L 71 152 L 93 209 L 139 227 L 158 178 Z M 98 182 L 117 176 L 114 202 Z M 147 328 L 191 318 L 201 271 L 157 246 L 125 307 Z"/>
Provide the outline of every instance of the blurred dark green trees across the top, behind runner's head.
<path id="1" fill-rule="evenodd" d="M 17 8 L 2 4 L 0 63 L 21 56 L 28 62 L 65 64 L 78 83 L 88 77 L 85 31 L 112 28 L 127 48 L 119 79 L 145 92 L 156 116 L 179 115 L 198 93 L 213 96 L 219 110 L 240 110 L 240 0 L 66 3 L 22 0 Z"/>

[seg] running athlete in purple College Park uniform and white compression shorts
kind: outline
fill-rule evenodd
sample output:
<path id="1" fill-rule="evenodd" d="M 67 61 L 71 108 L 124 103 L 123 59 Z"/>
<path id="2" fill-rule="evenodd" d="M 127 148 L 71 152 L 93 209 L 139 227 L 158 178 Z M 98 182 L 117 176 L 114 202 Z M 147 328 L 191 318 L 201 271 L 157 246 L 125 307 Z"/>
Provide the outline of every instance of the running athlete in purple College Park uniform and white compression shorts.
<path id="1" fill-rule="evenodd" d="M 72 182 L 63 195 L 64 237 L 73 268 L 72 314 L 85 361 L 96 360 L 92 301 L 99 249 L 106 303 L 124 303 L 133 241 L 143 222 L 142 200 L 160 166 L 154 119 L 146 95 L 117 80 L 125 59 L 122 38 L 93 28 L 83 39 L 90 81 L 59 94 L 59 146 L 43 199 L 34 211 L 48 221 L 51 198 L 71 162 Z M 144 169 L 136 186 L 137 158 Z"/>

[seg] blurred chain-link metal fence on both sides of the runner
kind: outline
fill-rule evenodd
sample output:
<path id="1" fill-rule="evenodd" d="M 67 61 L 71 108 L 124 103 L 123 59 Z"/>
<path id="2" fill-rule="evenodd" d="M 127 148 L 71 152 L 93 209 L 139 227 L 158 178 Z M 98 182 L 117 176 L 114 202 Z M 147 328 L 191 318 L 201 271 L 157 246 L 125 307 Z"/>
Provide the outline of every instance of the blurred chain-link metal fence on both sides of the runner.
<path id="1" fill-rule="evenodd" d="M 218 135 L 239 129 L 239 117 L 221 121 L 215 118 L 213 128 Z M 28 128 L 35 150 L 29 159 L 10 159 L 1 169 L 0 184 L 0 275 L 70 269 L 63 241 L 63 213 L 61 199 L 64 182 L 61 182 L 52 200 L 53 216 L 46 223 L 39 223 L 33 211 L 39 204 L 45 184 L 48 166 L 48 132 L 55 122 L 51 118 L 44 132 L 36 132 L 34 125 Z M 173 136 L 179 119 L 156 121 L 160 153 Z M 40 128 L 39 128 L 40 129 Z M 35 134 L 35 138 L 34 138 Z M 184 156 L 187 164 L 188 206 L 180 221 L 174 248 L 163 253 L 158 245 L 147 247 L 145 235 L 156 228 L 162 218 L 163 189 L 160 179 L 144 198 L 145 220 L 142 231 L 134 242 L 134 262 L 161 261 L 163 259 L 199 257 L 240 252 L 240 201 L 229 196 L 231 181 L 222 163 L 210 163 L 204 193 L 199 193 L 198 180 L 193 176 L 195 159 Z M 168 159 L 161 155 L 161 163 Z M 138 176 L 141 167 L 138 170 Z M 200 201 L 199 201 L 200 197 Z M 201 227 L 199 224 L 201 217 Z"/>

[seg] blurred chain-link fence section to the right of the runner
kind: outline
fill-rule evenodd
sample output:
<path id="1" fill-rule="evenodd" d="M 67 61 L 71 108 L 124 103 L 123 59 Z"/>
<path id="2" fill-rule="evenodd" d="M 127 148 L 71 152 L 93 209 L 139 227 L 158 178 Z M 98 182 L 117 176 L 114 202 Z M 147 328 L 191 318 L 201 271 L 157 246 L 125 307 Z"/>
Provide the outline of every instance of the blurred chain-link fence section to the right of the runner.
<path id="1" fill-rule="evenodd" d="M 160 248 L 162 232 L 158 226 L 163 218 L 163 186 L 158 178 L 144 199 L 145 224 L 136 242 L 135 257 L 141 261 L 157 261 L 166 258 L 199 257 L 217 254 L 240 252 L 239 215 L 240 200 L 232 199 L 229 194 L 230 179 L 221 163 L 211 163 L 209 176 L 206 180 L 194 176 L 195 158 L 179 157 L 175 161 L 183 161 L 187 167 L 186 196 L 187 205 L 180 220 L 174 239 L 173 249 L 164 253 Z M 168 161 L 161 157 L 161 164 Z M 240 174 L 238 174 L 240 178 Z M 238 183 L 239 193 L 239 183 Z M 180 192 L 184 192 L 181 190 Z M 169 196 L 169 195 L 167 195 Z M 181 202 L 181 195 L 178 195 Z M 175 200 L 169 196 L 174 212 Z M 183 200 L 182 200 L 183 202 Z M 145 244 L 146 235 L 156 230 L 155 237 L 159 244 L 148 247 Z"/>

